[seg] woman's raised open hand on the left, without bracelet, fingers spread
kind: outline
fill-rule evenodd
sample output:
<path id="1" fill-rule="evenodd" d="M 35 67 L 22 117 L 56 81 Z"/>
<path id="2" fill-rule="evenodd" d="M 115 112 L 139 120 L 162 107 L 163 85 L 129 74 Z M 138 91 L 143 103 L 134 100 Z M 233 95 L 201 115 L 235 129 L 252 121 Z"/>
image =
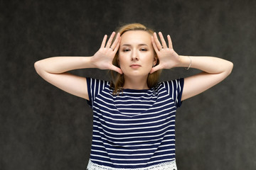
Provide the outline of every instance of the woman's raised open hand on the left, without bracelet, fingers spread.
<path id="1" fill-rule="evenodd" d="M 110 35 L 109 40 L 107 41 L 107 35 L 104 36 L 102 40 L 102 44 L 100 46 L 100 50 L 98 50 L 95 55 L 92 56 L 91 62 L 98 69 L 112 69 L 115 72 L 119 72 L 122 74 L 122 70 L 112 64 L 114 59 L 114 55 L 117 53 L 117 50 L 120 45 L 120 34 L 117 33 L 117 37 L 111 45 L 112 40 L 114 39 L 115 33 L 113 32 Z M 106 44 L 107 42 L 107 44 Z"/>

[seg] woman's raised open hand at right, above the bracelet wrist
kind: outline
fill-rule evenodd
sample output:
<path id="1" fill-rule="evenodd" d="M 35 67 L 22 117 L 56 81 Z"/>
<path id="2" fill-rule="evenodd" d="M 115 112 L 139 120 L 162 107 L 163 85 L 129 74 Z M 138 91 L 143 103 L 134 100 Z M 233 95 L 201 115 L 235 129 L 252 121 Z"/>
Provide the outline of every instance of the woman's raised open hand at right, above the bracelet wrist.
<path id="1" fill-rule="evenodd" d="M 170 35 L 167 35 L 169 46 L 166 45 L 166 41 L 164 40 L 164 36 L 161 32 L 159 32 L 159 38 L 161 43 L 159 42 L 156 33 L 151 37 L 152 45 L 156 51 L 157 57 L 159 58 L 159 64 L 156 65 L 156 67 L 153 67 L 150 73 L 156 72 L 159 69 L 171 69 L 181 62 L 181 58 L 174 51 Z"/>

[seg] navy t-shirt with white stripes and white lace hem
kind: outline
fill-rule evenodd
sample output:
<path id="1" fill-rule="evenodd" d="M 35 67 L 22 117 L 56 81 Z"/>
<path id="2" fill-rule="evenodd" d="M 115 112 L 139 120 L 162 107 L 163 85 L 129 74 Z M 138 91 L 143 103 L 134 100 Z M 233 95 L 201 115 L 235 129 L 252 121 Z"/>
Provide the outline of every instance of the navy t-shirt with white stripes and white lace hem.
<path id="1" fill-rule="evenodd" d="M 159 169 L 175 164 L 175 117 L 183 79 L 113 95 L 109 81 L 87 78 L 87 90 L 93 110 L 87 169 Z"/>

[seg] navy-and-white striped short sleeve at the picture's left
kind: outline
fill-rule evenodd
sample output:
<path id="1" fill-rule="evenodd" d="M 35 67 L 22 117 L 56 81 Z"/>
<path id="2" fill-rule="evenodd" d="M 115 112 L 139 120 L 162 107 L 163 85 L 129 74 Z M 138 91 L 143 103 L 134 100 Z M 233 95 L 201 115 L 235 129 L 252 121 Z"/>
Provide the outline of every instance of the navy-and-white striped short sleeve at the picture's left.
<path id="1" fill-rule="evenodd" d="M 105 89 L 105 86 L 107 86 L 107 81 L 100 80 L 100 79 L 92 79 L 87 77 L 87 91 L 89 100 L 87 100 L 88 105 L 92 108 L 93 102 L 95 101 L 95 98 L 97 97 L 100 92 Z"/>

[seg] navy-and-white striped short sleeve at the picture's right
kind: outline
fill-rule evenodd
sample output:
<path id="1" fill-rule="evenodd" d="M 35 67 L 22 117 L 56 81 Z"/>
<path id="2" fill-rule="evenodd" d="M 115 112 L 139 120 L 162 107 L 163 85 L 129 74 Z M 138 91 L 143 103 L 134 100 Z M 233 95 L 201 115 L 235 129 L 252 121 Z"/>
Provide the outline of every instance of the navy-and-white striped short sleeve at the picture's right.
<path id="1" fill-rule="evenodd" d="M 181 96 L 183 91 L 184 79 L 175 79 L 171 81 L 165 81 L 164 85 L 168 94 L 173 98 L 176 107 L 181 107 Z"/>

